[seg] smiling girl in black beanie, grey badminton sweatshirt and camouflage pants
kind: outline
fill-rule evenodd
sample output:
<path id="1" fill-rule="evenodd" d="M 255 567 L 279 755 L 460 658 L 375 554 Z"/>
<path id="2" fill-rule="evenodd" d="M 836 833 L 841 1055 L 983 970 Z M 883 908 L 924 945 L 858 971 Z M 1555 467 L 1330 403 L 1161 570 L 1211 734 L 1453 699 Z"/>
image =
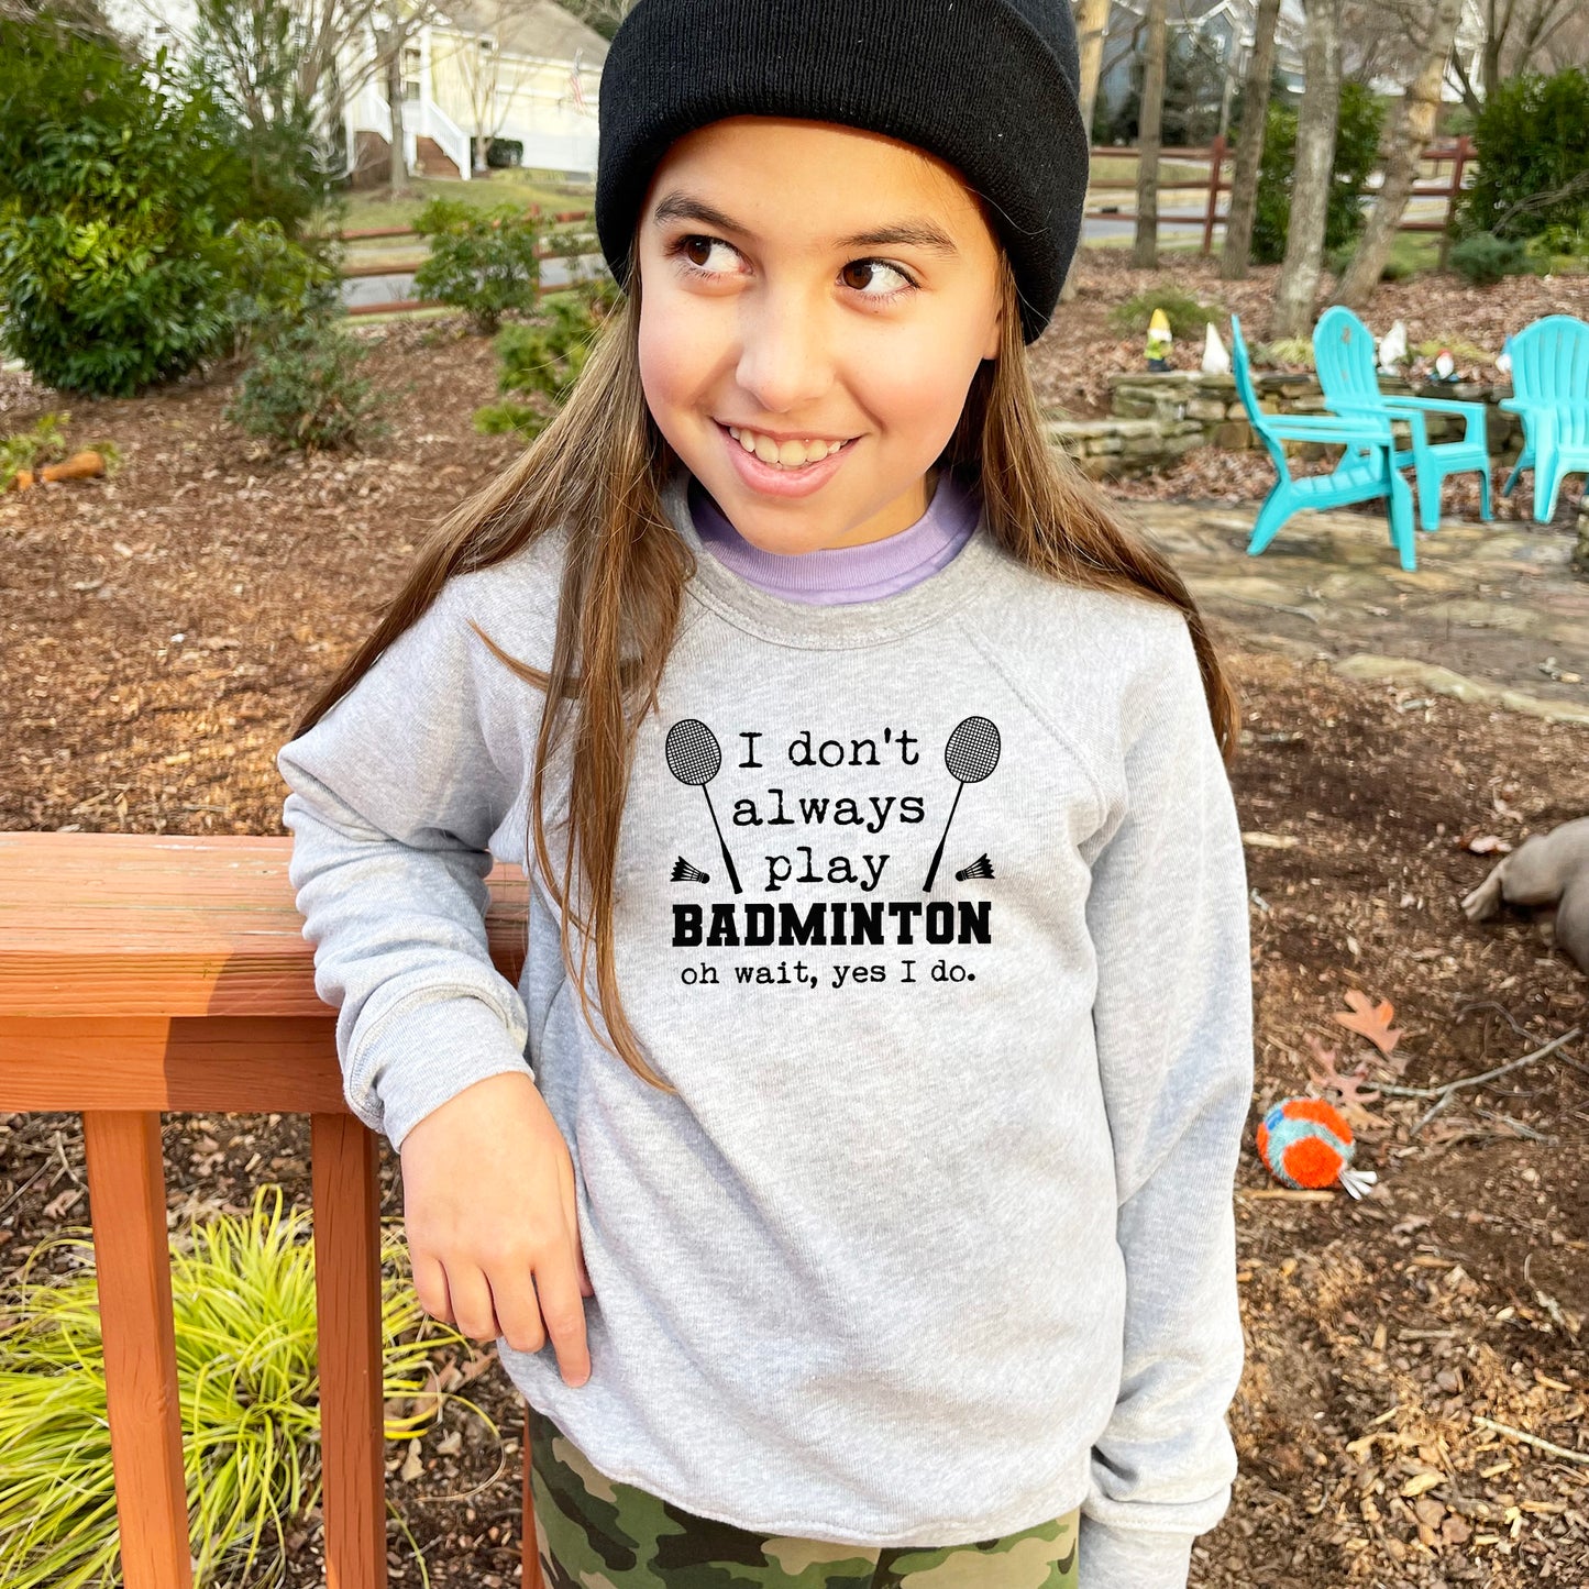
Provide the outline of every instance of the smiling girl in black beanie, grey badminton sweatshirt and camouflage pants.
<path id="1" fill-rule="evenodd" d="M 1182 1589 L 1228 1506 L 1238 718 L 1044 439 L 1074 83 L 1063 0 L 640 0 L 621 307 L 280 752 L 550 1584 Z"/>

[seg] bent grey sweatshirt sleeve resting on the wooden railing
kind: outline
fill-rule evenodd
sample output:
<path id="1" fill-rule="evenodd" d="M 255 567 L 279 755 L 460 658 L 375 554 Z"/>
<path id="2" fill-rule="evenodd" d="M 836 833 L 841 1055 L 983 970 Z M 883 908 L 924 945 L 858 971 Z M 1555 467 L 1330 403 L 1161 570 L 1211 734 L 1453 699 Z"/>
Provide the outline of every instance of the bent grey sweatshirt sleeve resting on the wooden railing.
<path id="1" fill-rule="evenodd" d="M 489 731 L 485 669 L 505 671 L 456 586 L 276 753 L 291 790 L 288 876 L 315 988 L 338 1011 L 343 1092 L 394 1149 L 474 1082 L 534 1079 L 528 1011 L 493 965 L 485 925 L 489 841 L 520 793 L 520 737 L 512 725 Z"/>

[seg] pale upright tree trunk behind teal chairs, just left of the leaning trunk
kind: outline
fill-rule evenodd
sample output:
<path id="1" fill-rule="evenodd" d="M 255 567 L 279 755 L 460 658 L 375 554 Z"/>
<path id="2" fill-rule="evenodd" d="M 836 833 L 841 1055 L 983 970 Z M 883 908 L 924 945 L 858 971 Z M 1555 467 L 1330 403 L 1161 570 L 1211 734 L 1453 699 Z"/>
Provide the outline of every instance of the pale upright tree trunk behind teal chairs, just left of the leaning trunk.
<path id="1" fill-rule="evenodd" d="M 1270 337 L 1306 337 L 1324 262 L 1324 227 L 1335 181 L 1335 129 L 1341 113 L 1340 0 L 1308 0 L 1308 46 L 1301 111 L 1297 118 L 1297 173 L 1286 227 L 1286 262 L 1274 288 Z"/>

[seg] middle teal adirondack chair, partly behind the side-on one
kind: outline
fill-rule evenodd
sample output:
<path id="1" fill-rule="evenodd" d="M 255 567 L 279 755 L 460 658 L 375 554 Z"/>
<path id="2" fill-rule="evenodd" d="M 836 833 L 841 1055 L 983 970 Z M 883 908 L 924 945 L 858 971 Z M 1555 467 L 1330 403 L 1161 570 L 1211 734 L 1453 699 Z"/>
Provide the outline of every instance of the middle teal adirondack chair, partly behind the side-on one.
<path id="1" fill-rule="evenodd" d="M 1440 529 L 1440 483 L 1446 475 L 1470 469 L 1479 477 L 1479 513 L 1494 518 L 1489 496 L 1489 435 L 1484 404 L 1448 397 L 1392 397 L 1379 391 L 1374 372 L 1374 338 L 1368 327 L 1341 305 L 1327 308 L 1313 327 L 1313 359 L 1328 407 L 1347 418 L 1381 415 L 1405 419 L 1411 448 L 1397 453 L 1397 467 L 1413 464 L 1417 477 L 1417 518 L 1424 529 Z M 1465 421 L 1460 442 L 1430 442 L 1425 413 L 1456 413 Z"/>

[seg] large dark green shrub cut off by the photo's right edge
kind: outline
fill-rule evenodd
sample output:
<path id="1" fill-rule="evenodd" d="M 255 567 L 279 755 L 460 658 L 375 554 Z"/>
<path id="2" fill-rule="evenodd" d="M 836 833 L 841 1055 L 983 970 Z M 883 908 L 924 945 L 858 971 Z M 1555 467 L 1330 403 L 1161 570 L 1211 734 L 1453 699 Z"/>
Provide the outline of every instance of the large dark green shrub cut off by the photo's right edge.
<path id="1" fill-rule="evenodd" d="M 1589 230 L 1589 72 L 1525 72 L 1497 83 L 1473 143 L 1478 175 L 1457 211 L 1462 234 Z"/>

